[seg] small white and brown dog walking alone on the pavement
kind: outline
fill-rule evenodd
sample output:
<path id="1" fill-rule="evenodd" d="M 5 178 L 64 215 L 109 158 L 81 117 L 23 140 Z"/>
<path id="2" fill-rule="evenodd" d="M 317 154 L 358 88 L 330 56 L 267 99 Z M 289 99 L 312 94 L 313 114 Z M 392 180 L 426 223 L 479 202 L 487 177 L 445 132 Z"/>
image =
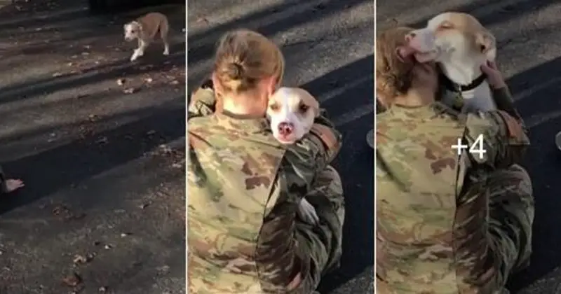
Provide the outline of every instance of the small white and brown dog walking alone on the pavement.
<path id="1" fill-rule="evenodd" d="M 170 45 L 168 43 L 170 25 L 165 15 L 161 13 L 148 13 L 142 16 L 142 18 L 126 23 L 123 25 L 123 29 L 125 31 L 125 41 L 138 40 L 138 48 L 133 52 L 130 61 L 135 61 L 138 57 L 144 55 L 144 50 L 154 41 L 158 31 L 163 42 L 163 55 L 170 54 Z"/>

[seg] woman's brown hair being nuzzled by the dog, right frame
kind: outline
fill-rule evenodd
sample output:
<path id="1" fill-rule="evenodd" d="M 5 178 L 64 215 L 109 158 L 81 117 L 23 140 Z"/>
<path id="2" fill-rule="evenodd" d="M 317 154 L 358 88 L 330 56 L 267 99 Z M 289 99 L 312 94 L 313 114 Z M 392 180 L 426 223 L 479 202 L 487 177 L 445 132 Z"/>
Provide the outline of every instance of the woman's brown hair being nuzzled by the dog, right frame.
<path id="1" fill-rule="evenodd" d="M 398 47 L 406 45 L 405 35 L 413 29 L 396 27 L 376 36 L 376 91 L 387 108 L 393 99 L 407 93 L 412 83 L 414 62 L 398 56 Z"/>

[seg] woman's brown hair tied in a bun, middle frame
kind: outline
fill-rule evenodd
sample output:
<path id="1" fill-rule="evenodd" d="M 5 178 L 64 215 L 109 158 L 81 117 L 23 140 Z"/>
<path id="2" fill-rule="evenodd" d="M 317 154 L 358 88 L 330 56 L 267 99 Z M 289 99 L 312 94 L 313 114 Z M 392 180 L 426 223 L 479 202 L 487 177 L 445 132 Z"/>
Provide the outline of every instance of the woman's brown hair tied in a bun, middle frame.
<path id="1" fill-rule="evenodd" d="M 224 34 L 218 42 L 212 80 L 217 93 L 238 94 L 255 89 L 262 80 L 275 76 L 280 83 L 285 61 L 275 43 L 248 29 Z"/>

